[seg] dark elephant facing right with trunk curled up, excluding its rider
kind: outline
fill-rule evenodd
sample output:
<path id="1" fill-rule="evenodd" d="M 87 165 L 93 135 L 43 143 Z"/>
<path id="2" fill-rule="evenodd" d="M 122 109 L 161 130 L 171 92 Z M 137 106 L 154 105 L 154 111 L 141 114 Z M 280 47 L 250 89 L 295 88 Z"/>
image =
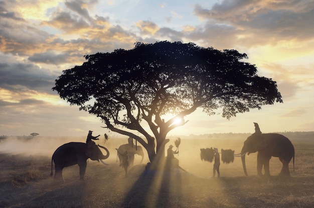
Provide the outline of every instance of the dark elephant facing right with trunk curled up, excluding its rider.
<path id="1" fill-rule="evenodd" d="M 103 155 L 100 148 L 106 150 L 106 155 Z M 52 172 L 52 162 L 55 163 L 55 179 L 63 180 L 62 170 L 64 167 L 78 164 L 80 167 L 80 180 L 85 180 L 85 170 L 87 165 L 87 159 L 99 160 L 106 164 L 102 159 L 107 159 L 109 157 L 109 150 L 101 145 L 96 145 L 94 141 L 90 141 L 88 144 L 83 142 L 69 142 L 59 146 L 52 155 L 51 158 L 51 173 Z"/>

